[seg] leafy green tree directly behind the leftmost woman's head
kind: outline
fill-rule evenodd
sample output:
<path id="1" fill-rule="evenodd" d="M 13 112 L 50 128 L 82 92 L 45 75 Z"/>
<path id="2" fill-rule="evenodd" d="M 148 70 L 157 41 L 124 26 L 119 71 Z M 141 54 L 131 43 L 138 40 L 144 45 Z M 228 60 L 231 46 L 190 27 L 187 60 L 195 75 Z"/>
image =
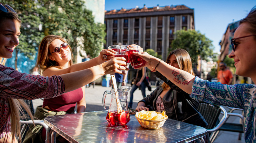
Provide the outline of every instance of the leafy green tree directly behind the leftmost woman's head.
<path id="1" fill-rule="evenodd" d="M 37 4 L 34 0 L 2 0 L 1 3 L 9 4 L 17 11 L 18 17 L 22 20 L 20 43 L 15 48 L 15 69 L 17 69 L 19 53 L 24 54 L 31 60 L 35 58 L 37 47 L 44 36 L 39 29 L 42 22 L 38 17 Z"/>

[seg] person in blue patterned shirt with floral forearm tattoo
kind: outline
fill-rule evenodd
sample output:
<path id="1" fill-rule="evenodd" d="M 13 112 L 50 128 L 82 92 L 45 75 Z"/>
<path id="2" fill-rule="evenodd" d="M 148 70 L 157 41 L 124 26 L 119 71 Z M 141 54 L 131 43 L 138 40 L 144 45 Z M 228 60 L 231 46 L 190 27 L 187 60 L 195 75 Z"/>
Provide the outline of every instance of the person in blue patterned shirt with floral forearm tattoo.
<path id="1" fill-rule="evenodd" d="M 256 7 L 240 21 L 231 39 L 236 74 L 250 77 L 256 83 Z M 245 142 L 256 142 L 256 86 L 252 84 L 226 85 L 208 82 L 177 69 L 147 53 L 135 53 L 144 60 L 144 66 L 160 72 L 172 83 L 198 100 L 244 109 Z M 166 70 L 169 69 L 169 70 Z M 171 73 L 170 73 L 171 72 Z"/>

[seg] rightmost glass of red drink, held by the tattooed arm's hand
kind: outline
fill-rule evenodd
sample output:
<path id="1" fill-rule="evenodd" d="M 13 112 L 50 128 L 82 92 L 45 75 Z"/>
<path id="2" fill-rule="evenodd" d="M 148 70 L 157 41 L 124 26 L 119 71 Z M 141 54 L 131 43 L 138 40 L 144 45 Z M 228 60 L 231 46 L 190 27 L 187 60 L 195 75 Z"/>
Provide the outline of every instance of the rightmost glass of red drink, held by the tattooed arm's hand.
<path id="1" fill-rule="evenodd" d="M 130 59 L 132 67 L 137 67 L 142 64 L 142 60 L 139 56 L 133 55 L 133 52 L 139 52 L 138 46 L 130 47 L 126 49 L 126 54 Z"/>

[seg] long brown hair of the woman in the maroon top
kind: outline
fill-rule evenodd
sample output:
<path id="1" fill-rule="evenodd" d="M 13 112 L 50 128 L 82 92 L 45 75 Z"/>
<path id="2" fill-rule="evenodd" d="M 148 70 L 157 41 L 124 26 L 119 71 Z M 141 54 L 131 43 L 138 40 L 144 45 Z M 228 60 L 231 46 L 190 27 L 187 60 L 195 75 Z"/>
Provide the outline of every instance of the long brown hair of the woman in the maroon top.
<path id="1" fill-rule="evenodd" d="M 61 38 L 60 36 L 57 36 L 57 35 L 45 36 L 39 45 L 35 67 L 38 67 L 43 71 L 50 67 L 57 67 L 57 68 L 61 69 L 58 62 L 53 61 L 49 58 L 50 53 L 51 53 L 51 51 L 49 50 L 49 45 L 55 39 L 59 39 L 63 42 L 68 43 L 66 40 L 64 40 L 63 38 Z M 70 51 L 72 51 L 70 45 L 68 45 L 68 46 L 69 46 Z M 71 56 L 73 59 L 72 52 L 71 52 Z M 69 66 L 73 65 L 72 59 L 69 61 Z"/>

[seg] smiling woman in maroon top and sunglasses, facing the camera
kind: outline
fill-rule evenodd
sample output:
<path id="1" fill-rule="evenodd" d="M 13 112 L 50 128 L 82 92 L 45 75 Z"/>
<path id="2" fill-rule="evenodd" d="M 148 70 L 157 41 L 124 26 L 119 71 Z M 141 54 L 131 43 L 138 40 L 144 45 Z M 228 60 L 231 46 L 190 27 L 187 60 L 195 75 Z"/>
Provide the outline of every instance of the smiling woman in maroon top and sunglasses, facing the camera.
<path id="1" fill-rule="evenodd" d="M 108 55 L 109 58 L 112 58 L 115 53 L 114 50 L 103 49 L 98 57 L 82 63 L 73 64 L 73 54 L 71 51 L 70 45 L 62 37 L 57 35 L 45 36 L 39 45 L 36 67 L 43 70 L 43 76 L 61 75 L 99 65 L 109 60 L 108 58 L 104 59 L 104 55 Z M 44 99 L 43 105 L 36 108 L 34 116 L 43 120 L 48 116 L 74 113 L 75 105 L 77 105 L 78 113 L 85 112 L 85 87 L 81 87 L 55 98 Z M 43 126 L 40 128 L 37 127 L 37 131 L 35 130 L 33 134 L 30 132 L 27 133 L 24 143 L 31 143 L 32 141 L 38 142 L 39 140 L 45 142 L 45 133 Z M 61 136 L 57 136 L 57 139 L 58 138 L 62 139 Z"/>

